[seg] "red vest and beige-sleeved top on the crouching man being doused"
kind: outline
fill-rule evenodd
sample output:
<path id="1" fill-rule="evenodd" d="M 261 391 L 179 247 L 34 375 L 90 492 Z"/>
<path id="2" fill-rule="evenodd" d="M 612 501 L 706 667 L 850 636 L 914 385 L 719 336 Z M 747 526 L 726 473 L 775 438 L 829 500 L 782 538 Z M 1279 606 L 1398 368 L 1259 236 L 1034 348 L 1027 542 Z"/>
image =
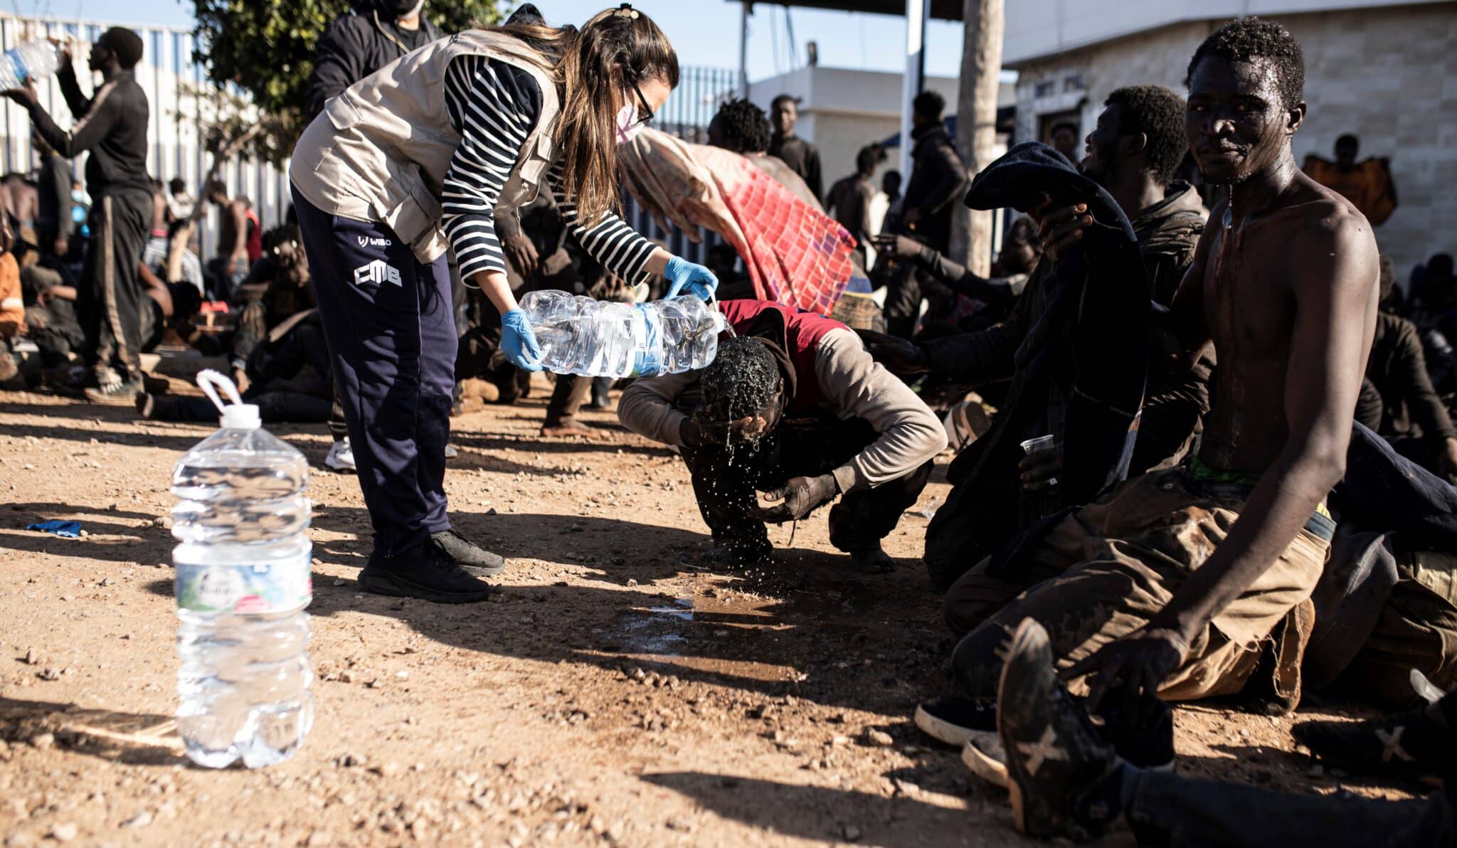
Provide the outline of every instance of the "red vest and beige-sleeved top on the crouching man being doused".
<path id="1" fill-rule="evenodd" d="M 935 414 L 870 358 L 860 337 L 842 323 L 753 300 L 730 300 L 720 309 L 739 335 L 759 335 L 762 325 L 755 326 L 759 321 L 782 326 L 772 329 L 797 372 L 785 415 L 828 408 L 842 418 L 863 418 L 880 434 L 832 469 L 841 492 L 876 488 L 911 474 L 946 447 L 946 430 Z M 699 374 L 637 380 L 622 393 L 618 418 L 640 436 L 680 447 L 679 431 L 686 415 L 676 402 L 698 383 Z"/>

